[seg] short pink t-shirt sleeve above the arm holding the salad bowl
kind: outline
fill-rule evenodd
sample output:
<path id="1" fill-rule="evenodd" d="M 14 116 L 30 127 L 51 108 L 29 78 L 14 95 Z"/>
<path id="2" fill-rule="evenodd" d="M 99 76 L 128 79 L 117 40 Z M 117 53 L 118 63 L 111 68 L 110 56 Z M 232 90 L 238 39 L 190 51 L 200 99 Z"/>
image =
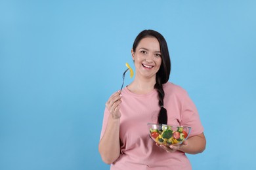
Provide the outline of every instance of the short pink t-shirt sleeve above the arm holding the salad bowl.
<path id="1" fill-rule="evenodd" d="M 190 136 L 199 135 L 200 133 L 203 133 L 203 126 L 200 121 L 198 109 L 196 109 L 196 105 L 194 105 L 187 92 L 185 92 L 183 97 L 181 124 L 182 126 L 192 127 Z"/>

